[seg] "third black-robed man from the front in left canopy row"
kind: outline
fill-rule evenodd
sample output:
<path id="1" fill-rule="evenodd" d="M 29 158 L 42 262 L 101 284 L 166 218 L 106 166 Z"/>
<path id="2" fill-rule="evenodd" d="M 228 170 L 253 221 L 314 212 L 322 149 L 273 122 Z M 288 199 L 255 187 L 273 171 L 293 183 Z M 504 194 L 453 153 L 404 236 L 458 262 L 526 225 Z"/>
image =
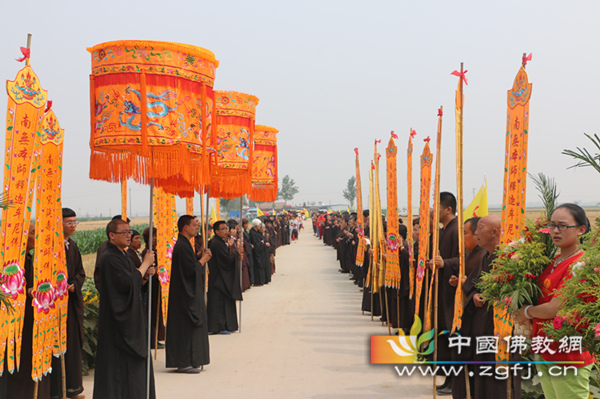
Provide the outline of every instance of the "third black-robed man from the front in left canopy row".
<path id="1" fill-rule="evenodd" d="M 233 244 L 225 242 L 231 229 L 232 225 L 222 220 L 215 222 L 215 236 L 208 243 L 212 253 L 208 262 L 210 278 L 206 309 L 210 334 L 229 334 L 238 329 L 235 301 L 242 300 L 239 268 L 243 248 L 234 248 Z"/>

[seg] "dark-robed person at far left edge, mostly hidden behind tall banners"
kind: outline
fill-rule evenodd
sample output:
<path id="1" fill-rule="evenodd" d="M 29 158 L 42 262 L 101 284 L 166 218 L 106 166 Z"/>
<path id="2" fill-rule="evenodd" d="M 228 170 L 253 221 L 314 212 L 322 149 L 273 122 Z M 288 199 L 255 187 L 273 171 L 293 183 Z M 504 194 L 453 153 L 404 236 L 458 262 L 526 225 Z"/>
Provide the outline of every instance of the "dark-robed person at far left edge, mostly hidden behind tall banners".
<path id="1" fill-rule="evenodd" d="M 23 329 L 21 336 L 21 360 L 18 370 L 10 373 L 4 362 L 4 373 L 0 377 L 0 399 L 33 398 L 35 382 L 31 378 L 33 357 L 33 256 L 30 251 L 35 246 L 35 224 L 29 226 L 27 247 L 25 254 L 25 314 L 23 315 Z M 37 388 L 38 399 L 50 398 L 50 375 L 44 376 Z"/>

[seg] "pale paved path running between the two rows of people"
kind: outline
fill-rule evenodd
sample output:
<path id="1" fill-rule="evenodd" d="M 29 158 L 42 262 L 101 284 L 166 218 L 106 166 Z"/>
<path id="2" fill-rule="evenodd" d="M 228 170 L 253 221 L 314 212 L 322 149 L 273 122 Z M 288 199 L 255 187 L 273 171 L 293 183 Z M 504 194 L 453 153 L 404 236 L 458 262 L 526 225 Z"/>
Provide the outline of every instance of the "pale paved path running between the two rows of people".
<path id="1" fill-rule="evenodd" d="M 398 377 L 392 366 L 369 363 L 369 336 L 387 328 L 362 315 L 362 293 L 308 228 L 277 250 L 272 282 L 244 293 L 242 332 L 210 336 L 211 363 L 202 373 L 173 373 L 158 351 L 157 398 L 432 396 L 431 378 Z M 84 386 L 90 398 L 93 375 Z"/>

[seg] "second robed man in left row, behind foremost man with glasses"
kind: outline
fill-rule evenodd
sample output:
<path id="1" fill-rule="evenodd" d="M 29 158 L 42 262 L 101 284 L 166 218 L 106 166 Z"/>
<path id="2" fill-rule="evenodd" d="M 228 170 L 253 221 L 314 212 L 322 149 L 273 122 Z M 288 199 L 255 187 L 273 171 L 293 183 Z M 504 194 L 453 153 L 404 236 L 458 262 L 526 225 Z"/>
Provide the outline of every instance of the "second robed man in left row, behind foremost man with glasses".
<path id="1" fill-rule="evenodd" d="M 179 237 L 173 247 L 166 367 L 177 367 L 180 373 L 199 373 L 210 363 L 203 267 L 210 259 L 211 251 L 204 251 L 198 261 L 190 242 L 198 234 L 199 227 L 194 216 L 181 216 L 177 221 Z"/>

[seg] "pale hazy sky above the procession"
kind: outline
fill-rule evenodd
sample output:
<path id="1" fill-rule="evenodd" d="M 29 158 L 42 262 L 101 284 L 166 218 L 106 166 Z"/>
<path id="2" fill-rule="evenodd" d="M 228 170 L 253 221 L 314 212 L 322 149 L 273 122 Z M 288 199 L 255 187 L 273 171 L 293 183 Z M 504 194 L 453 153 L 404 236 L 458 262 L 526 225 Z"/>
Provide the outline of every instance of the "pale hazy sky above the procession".
<path id="1" fill-rule="evenodd" d="M 561 202 L 596 203 L 600 176 L 589 168 L 567 170 L 573 161 L 561 151 L 592 149 L 583 133 L 599 133 L 598 15 L 600 3 L 593 1 L 6 0 L 0 5 L 0 72 L 2 79 L 14 79 L 22 67 L 14 59 L 32 33 L 31 65 L 65 129 L 63 205 L 82 215 L 107 215 L 119 210 L 120 187 L 88 178 L 86 47 L 146 39 L 213 51 L 220 61 L 215 88 L 256 95 L 256 123 L 279 129 L 279 175 L 295 179 L 300 188 L 295 203 L 345 202 L 342 190 L 354 174 L 355 147 L 366 201 L 373 140 L 387 145 L 394 130 L 400 137 L 399 201 L 405 206 L 408 133 L 411 127 L 417 131 L 420 155 L 422 139 L 435 138 L 440 105 L 441 188 L 454 192 L 458 78 L 450 72 L 464 62 L 465 206 L 484 174 L 489 202 L 497 205 L 506 92 L 522 54 L 533 53 L 527 66 L 533 83 L 528 169 L 556 178 Z M 6 95 L 0 96 L 0 109 L 6 109 Z M 0 115 L 5 125 L 5 112 Z M 148 189 L 135 185 L 132 192 L 133 213 L 147 213 Z M 531 182 L 527 197 L 537 201 Z"/>

